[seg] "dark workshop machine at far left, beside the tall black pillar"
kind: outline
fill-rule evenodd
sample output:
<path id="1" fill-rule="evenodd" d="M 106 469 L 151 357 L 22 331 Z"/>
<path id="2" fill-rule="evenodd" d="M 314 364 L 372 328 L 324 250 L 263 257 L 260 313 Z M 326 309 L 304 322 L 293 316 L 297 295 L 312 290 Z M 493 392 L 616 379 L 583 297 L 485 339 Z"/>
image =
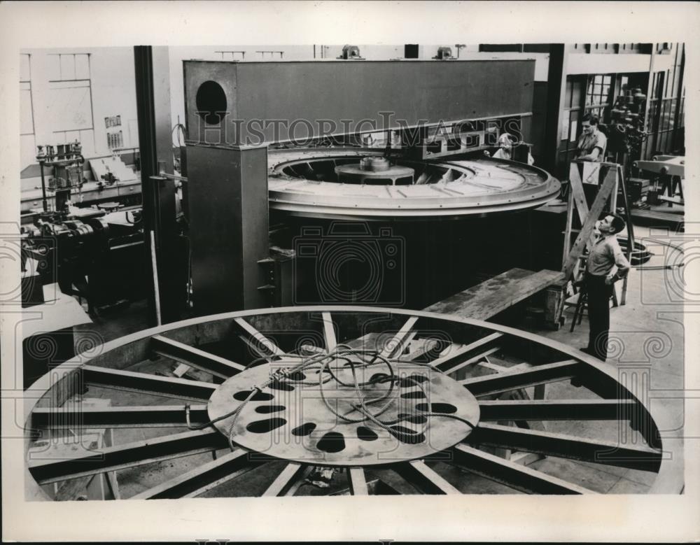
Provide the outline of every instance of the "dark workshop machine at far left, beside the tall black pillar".
<path id="1" fill-rule="evenodd" d="M 37 148 L 41 208 L 27 208 L 22 216 L 25 306 L 43 303 L 41 286 L 50 283 L 84 298 L 91 315 L 145 296 L 147 283 L 132 274 L 144 263 L 141 207 L 83 198 L 83 188 L 86 194 L 95 191 L 92 186 L 116 192 L 118 181 L 135 175 L 116 157 L 94 159 L 90 167 L 97 181 L 87 182 L 81 152 L 78 141 Z"/>

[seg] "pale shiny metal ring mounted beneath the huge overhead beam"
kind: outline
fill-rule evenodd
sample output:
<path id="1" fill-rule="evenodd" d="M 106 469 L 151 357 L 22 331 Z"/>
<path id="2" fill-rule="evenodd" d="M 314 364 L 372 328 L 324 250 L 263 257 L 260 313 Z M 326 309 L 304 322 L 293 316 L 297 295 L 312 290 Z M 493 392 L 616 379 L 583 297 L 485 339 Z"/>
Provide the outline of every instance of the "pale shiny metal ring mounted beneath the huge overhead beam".
<path id="1" fill-rule="evenodd" d="M 313 218 L 406 220 L 535 208 L 559 194 L 559 181 L 546 171 L 497 159 L 431 161 L 454 171 L 456 179 L 419 185 L 341 184 L 283 173 L 285 167 L 294 164 L 367 155 L 382 153 L 357 148 L 270 151 L 270 208 Z"/>

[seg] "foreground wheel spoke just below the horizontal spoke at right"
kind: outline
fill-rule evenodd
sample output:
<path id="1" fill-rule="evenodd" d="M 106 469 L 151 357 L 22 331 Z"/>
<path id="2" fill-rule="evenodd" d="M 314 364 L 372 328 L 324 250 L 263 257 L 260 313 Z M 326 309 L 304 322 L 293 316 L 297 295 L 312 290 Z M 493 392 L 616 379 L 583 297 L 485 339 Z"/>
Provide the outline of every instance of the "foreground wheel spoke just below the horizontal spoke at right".
<path id="1" fill-rule="evenodd" d="M 614 441 L 593 441 L 497 424 L 479 424 L 467 441 L 650 472 L 657 472 L 661 464 L 661 451 L 645 446 L 630 447 Z"/>

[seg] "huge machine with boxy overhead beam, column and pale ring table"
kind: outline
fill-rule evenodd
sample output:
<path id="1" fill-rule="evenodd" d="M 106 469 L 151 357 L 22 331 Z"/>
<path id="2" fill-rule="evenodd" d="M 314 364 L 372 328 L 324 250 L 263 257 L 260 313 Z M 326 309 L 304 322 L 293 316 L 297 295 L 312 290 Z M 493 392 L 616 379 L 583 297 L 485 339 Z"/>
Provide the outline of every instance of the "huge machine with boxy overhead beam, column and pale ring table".
<path id="1" fill-rule="evenodd" d="M 527 157 L 533 64 L 186 61 L 195 313 L 424 308 L 484 274 L 545 267 L 512 227 L 559 183 L 484 155 L 508 132 Z M 291 281 L 271 281 L 269 226 Z"/>

